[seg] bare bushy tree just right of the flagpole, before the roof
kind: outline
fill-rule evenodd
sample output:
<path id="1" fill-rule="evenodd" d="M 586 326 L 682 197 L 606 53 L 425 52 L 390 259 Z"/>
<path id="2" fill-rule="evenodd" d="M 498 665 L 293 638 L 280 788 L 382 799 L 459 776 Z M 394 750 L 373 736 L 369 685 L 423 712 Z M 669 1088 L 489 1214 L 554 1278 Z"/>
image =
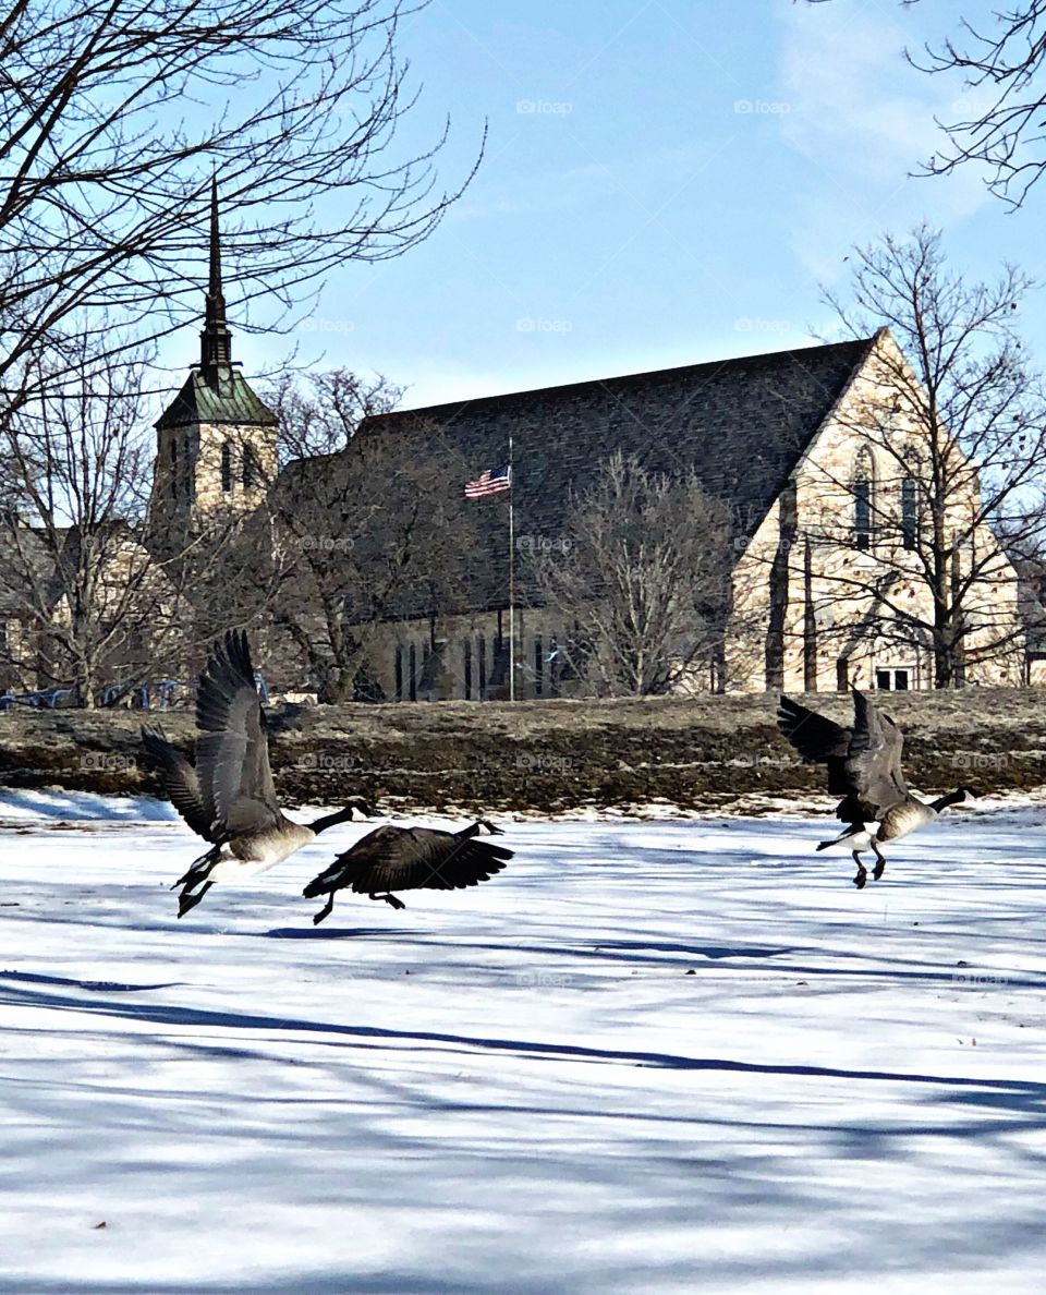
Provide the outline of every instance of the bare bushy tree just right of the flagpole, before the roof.
<path id="1" fill-rule="evenodd" d="M 729 510 L 690 473 L 620 451 L 571 500 L 562 543 L 529 554 L 540 600 L 575 629 L 559 645 L 595 694 L 671 692 L 722 644 Z"/>

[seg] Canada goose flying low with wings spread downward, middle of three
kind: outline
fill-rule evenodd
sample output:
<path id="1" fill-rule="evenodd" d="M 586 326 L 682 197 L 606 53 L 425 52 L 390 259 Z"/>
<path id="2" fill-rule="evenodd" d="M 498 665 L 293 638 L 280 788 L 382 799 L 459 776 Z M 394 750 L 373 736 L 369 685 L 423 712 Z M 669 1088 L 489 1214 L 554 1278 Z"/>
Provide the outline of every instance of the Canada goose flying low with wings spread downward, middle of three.
<path id="1" fill-rule="evenodd" d="M 513 857 L 513 851 L 474 840 L 480 828 L 496 837 L 504 835 L 485 818 L 461 831 L 391 825 L 375 828 L 306 886 L 306 899 L 330 896 L 313 917 L 313 926 L 330 914 L 334 892 L 346 886 L 356 895 L 383 899 L 392 908 L 406 908 L 401 899 L 391 894 L 394 890 L 462 890 L 488 881 L 501 872 Z"/>

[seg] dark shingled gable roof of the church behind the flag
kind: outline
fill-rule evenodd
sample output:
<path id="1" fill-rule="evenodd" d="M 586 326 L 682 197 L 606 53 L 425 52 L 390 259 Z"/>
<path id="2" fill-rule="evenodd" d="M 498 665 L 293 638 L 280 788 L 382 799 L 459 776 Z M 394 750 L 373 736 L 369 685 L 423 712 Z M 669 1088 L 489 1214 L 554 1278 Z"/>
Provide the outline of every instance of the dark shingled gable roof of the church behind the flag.
<path id="1" fill-rule="evenodd" d="M 555 539 L 571 490 L 615 451 L 651 470 L 693 469 L 751 535 L 781 493 L 875 337 L 654 373 L 577 382 L 381 414 L 360 435 L 417 442 L 418 455 L 461 455 L 478 475 L 514 444 L 517 535 Z M 505 605 L 505 495 L 470 505 L 484 532 L 474 607 Z M 478 558 L 480 556 L 478 554 Z"/>

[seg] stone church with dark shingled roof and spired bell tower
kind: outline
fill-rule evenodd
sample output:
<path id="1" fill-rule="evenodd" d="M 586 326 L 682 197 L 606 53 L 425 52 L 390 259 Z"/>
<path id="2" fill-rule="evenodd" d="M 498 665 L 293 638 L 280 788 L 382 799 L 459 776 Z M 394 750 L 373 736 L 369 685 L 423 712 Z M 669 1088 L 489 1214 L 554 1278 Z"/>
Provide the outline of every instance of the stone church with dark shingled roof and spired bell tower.
<path id="1" fill-rule="evenodd" d="M 932 644 L 895 615 L 901 609 L 932 616 L 915 553 L 926 524 L 919 483 L 898 469 L 898 447 L 919 452 L 919 429 L 898 413 L 891 378 L 904 364 L 880 329 L 856 341 L 394 412 L 365 420 L 352 445 L 397 438 L 419 461 L 451 455 L 474 477 L 505 464 L 511 445 L 515 544 L 531 546 L 568 535 L 572 501 L 615 452 L 656 474 L 693 473 L 729 510 L 733 537 L 729 615 L 716 650 L 689 671 L 686 689 L 924 689 L 933 686 Z M 870 409 L 885 429 L 879 444 L 862 430 Z M 278 426 L 232 359 L 215 192 L 201 359 L 155 430 L 154 535 L 180 545 L 205 519 L 263 506 L 278 474 Z M 350 479 L 359 470 L 352 445 L 312 466 Z M 309 464 L 285 469 L 282 482 L 307 488 L 309 473 L 300 469 Z M 454 603 L 434 610 L 423 600 L 412 605 L 408 594 L 395 616 L 369 627 L 370 695 L 576 694 L 581 685 L 563 651 L 576 627 L 542 606 L 526 574 L 509 613 L 506 493 L 471 506 L 480 543 Z M 977 500 L 954 506 L 961 530 Z M 338 524 L 331 517 L 335 541 Z M 1027 597 L 988 526 L 974 528 L 953 574 L 974 571 L 975 550 L 990 556 L 992 576 L 974 580 L 966 598 L 974 619 L 957 682 L 1038 681 L 1034 670 L 1043 662 L 1029 666 L 1023 632 Z M 287 682 L 309 686 L 304 677 Z"/>

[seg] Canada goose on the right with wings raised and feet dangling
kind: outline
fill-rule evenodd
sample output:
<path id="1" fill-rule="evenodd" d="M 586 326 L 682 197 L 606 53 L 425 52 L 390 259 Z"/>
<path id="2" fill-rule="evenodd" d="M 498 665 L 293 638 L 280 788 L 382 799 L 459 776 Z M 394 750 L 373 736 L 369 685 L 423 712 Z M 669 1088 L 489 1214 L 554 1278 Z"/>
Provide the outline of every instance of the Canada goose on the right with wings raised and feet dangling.
<path id="1" fill-rule="evenodd" d="M 853 883 L 858 890 L 867 882 L 867 870 L 861 862 L 863 851 L 875 853 L 871 875 L 879 881 L 887 865 L 880 844 L 924 828 L 941 809 L 979 794 L 971 787 L 957 787 L 929 803 L 914 796 L 901 772 L 901 730 L 856 688 L 852 728 L 843 728 L 783 695 L 777 723 L 807 763 L 829 767 L 829 791 L 843 796 L 835 813 L 848 826 L 841 835 L 822 840 L 817 848 L 848 848 L 857 864 Z"/>

